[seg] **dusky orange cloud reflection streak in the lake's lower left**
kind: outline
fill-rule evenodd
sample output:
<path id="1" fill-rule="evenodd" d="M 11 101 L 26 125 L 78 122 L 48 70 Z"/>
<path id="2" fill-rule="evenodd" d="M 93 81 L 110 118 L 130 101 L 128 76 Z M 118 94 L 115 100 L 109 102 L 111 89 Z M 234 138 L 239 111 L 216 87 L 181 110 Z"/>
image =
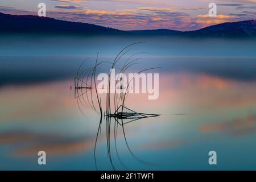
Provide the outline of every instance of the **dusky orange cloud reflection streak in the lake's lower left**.
<path id="1" fill-rule="evenodd" d="M 67 155 L 86 151 L 94 146 L 93 137 L 67 137 L 58 134 L 31 133 L 27 131 L 9 131 L 0 133 L 0 144 L 26 144 L 15 147 L 14 155 L 36 155 L 38 151 L 46 151 L 51 155 Z M 23 146 L 23 147 L 22 147 Z"/>

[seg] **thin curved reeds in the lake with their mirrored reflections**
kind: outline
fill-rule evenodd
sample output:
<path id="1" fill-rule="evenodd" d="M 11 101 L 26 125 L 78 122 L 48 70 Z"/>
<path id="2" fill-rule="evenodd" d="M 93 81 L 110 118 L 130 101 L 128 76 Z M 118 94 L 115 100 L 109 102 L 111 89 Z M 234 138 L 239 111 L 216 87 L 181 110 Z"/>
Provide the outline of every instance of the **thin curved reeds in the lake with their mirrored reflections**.
<path id="1" fill-rule="evenodd" d="M 110 140 L 111 140 L 110 134 L 112 134 L 112 132 L 114 134 L 115 154 L 117 154 L 117 158 L 119 162 L 122 164 L 122 166 L 127 168 L 125 164 L 123 164 L 118 154 L 117 142 L 116 142 L 118 126 L 121 127 L 121 131 L 125 139 L 127 149 L 129 150 L 133 158 L 135 158 L 141 163 L 151 164 L 149 162 L 145 162 L 139 159 L 137 156 L 134 155 L 133 151 L 131 150 L 127 142 L 127 138 L 125 134 L 125 125 L 134 121 L 138 121 L 139 119 L 158 117 L 160 114 L 139 113 L 138 111 L 129 109 L 129 107 L 126 106 L 125 101 L 127 100 L 127 96 L 130 90 L 129 88 L 131 88 L 130 83 L 132 80 L 127 79 L 126 80 L 127 88 L 124 88 L 122 85 L 118 86 L 118 81 L 122 80 L 122 78 L 118 77 L 118 79 L 115 80 L 115 90 L 114 90 L 113 97 L 110 96 L 110 80 L 111 80 L 110 72 L 108 77 L 108 88 L 107 88 L 108 92 L 106 93 L 106 96 L 105 96 L 106 102 L 105 102 L 105 105 L 103 106 L 102 98 L 100 97 L 100 94 L 98 94 L 97 81 L 96 81 L 96 72 L 101 67 L 110 68 L 110 70 L 118 68 L 119 73 L 124 74 L 126 73 L 128 68 L 132 67 L 135 64 L 138 64 L 138 61 L 140 58 L 136 56 L 146 52 L 133 53 L 132 55 L 128 56 L 128 58 L 126 58 L 121 68 L 117 66 L 118 61 L 123 56 L 127 55 L 127 53 L 129 53 L 132 46 L 134 46 L 135 44 L 141 44 L 141 43 L 143 42 L 137 42 L 137 43 L 130 44 L 129 46 L 126 46 L 118 53 L 118 55 L 115 57 L 113 61 L 99 61 L 98 53 L 97 53 L 97 57 L 93 67 L 83 69 L 84 63 L 86 63 L 86 61 L 89 60 L 89 58 L 87 58 L 80 64 L 79 69 L 77 70 L 77 74 L 75 77 L 75 99 L 77 100 L 77 105 L 79 106 L 81 113 L 86 117 L 86 114 L 82 110 L 82 106 L 89 106 L 94 111 L 100 114 L 100 122 L 98 125 L 96 141 L 94 144 L 94 162 L 95 162 L 96 169 L 98 169 L 97 161 L 96 161 L 96 146 L 97 146 L 98 137 L 101 131 L 103 119 L 106 121 L 106 143 L 108 148 L 107 149 L 108 157 L 110 160 L 110 164 L 112 165 L 112 168 L 114 170 L 115 170 L 115 167 L 112 160 L 112 149 L 110 147 Z M 148 71 L 150 69 L 157 69 L 157 68 L 160 68 L 160 67 L 139 70 L 138 73 L 136 73 L 134 76 L 136 76 L 139 73 Z M 126 89 L 126 90 L 123 92 L 119 92 L 122 89 Z M 94 102 L 94 98 L 93 98 L 94 95 L 96 95 L 97 104 Z M 111 130 L 111 126 L 113 125 L 113 122 L 114 122 L 114 131 Z"/>

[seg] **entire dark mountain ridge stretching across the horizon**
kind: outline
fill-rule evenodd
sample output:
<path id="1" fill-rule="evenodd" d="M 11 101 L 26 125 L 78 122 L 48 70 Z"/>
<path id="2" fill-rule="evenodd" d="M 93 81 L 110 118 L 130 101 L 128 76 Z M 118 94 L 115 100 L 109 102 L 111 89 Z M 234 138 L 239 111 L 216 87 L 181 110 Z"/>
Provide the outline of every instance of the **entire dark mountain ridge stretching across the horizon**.
<path id="1" fill-rule="evenodd" d="M 0 32 L 34 32 L 83 35 L 138 35 L 138 36 L 184 36 L 256 38 L 256 20 L 221 23 L 195 31 L 176 31 L 168 29 L 121 31 L 114 28 L 89 23 L 69 22 L 34 15 L 10 15 L 0 13 Z"/>

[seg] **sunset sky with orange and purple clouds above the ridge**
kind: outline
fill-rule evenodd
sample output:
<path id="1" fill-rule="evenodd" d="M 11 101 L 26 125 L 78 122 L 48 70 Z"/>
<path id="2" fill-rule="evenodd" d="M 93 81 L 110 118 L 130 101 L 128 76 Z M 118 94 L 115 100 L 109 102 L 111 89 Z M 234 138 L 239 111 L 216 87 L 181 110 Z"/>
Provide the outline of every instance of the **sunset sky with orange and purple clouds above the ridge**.
<path id="1" fill-rule="evenodd" d="M 189 31 L 256 19 L 256 0 L 1 0 L 0 12 L 38 15 L 39 3 L 46 4 L 46 15 L 51 18 L 119 30 Z M 209 3 L 216 3 L 216 17 L 208 15 Z"/>

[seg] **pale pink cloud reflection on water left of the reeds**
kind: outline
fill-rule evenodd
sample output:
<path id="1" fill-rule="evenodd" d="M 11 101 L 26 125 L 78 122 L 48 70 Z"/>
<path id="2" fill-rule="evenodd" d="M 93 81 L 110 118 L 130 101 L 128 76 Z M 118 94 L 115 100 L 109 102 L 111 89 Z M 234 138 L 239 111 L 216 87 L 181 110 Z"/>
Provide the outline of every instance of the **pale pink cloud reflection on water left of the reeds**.
<path id="1" fill-rule="evenodd" d="M 70 97 L 69 92 L 63 92 L 69 85 L 63 82 L 52 82 L 48 84 L 25 85 L 13 89 L 13 86 L 6 86 L 0 89 L 0 102 L 6 103 L 0 111 L 0 121 L 20 121 L 23 118 L 35 119 L 44 118 L 51 113 L 66 113 L 65 109 L 76 108 L 76 102 Z M 59 90 L 58 94 L 52 89 Z M 11 98 L 11 99 L 10 99 Z M 61 106 L 61 107 L 60 107 Z M 47 119 L 48 118 L 48 119 Z"/>

